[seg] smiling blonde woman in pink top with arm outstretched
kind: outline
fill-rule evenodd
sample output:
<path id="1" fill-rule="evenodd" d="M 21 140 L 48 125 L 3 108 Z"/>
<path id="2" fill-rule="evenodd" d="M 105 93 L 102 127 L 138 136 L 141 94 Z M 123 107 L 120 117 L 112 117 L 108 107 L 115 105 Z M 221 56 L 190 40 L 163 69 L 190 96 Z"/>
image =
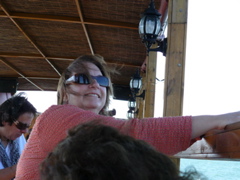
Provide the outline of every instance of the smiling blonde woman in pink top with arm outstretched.
<path id="1" fill-rule="evenodd" d="M 99 55 L 84 55 L 62 74 L 58 104 L 36 120 L 20 157 L 16 180 L 37 180 L 39 166 L 48 153 L 66 137 L 68 129 L 94 119 L 121 133 L 141 139 L 158 151 L 173 155 L 188 148 L 192 139 L 214 128 L 240 121 L 240 112 L 217 116 L 181 116 L 121 120 L 107 116 L 112 94 L 110 69 Z"/>

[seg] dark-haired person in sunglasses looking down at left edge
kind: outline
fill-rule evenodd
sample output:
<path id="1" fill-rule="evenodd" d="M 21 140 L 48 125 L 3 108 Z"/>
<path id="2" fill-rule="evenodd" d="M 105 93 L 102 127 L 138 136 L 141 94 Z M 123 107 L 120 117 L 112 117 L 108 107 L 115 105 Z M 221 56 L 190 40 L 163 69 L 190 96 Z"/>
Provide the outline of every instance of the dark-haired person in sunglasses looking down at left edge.
<path id="1" fill-rule="evenodd" d="M 15 177 L 16 164 L 26 144 L 24 133 L 36 115 L 35 107 L 22 94 L 0 105 L 0 179 Z"/>

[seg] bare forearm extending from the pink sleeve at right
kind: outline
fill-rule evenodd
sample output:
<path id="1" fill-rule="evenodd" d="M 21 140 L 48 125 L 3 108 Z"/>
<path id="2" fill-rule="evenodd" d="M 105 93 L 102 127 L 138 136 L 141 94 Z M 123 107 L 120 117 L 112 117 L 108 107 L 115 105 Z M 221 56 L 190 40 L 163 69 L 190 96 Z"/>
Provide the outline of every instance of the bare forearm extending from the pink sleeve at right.
<path id="1" fill-rule="evenodd" d="M 199 137 L 211 129 L 224 129 L 226 125 L 240 121 L 240 111 L 221 114 L 192 116 L 192 138 Z"/>

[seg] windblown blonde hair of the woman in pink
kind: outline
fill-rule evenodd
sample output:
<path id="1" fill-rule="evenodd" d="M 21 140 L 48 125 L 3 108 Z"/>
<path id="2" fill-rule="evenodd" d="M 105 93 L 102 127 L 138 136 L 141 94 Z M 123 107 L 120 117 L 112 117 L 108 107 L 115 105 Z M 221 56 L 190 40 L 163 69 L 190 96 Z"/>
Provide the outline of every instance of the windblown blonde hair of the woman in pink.
<path id="1" fill-rule="evenodd" d="M 110 96 L 113 95 L 113 87 L 111 83 L 110 78 L 110 69 L 107 67 L 107 64 L 104 60 L 104 58 L 100 55 L 83 55 L 79 56 L 77 59 L 75 59 L 63 72 L 62 76 L 59 79 L 58 82 L 58 88 L 57 88 L 57 99 L 58 104 L 67 104 L 66 102 L 66 93 L 67 93 L 67 86 L 65 84 L 65 81 L 72 76 L 73 73 L 79 74 L 79 73 L 86 73 L 88 74 L 88 70 L 86 68 L 85 63 L 92 63 L 96 65 L 99 70 L 101 71 L 103 76 L 106 76 L 109 78 L 110 81 L 110 87 L 107 87 L 107 96 L 106 96 L 106 103 L 103 107 L 103 109 L 100 111 L 99 114 L 102 115 L 108 115 L 107 114 L 107 108 L 110 103 Z"/>

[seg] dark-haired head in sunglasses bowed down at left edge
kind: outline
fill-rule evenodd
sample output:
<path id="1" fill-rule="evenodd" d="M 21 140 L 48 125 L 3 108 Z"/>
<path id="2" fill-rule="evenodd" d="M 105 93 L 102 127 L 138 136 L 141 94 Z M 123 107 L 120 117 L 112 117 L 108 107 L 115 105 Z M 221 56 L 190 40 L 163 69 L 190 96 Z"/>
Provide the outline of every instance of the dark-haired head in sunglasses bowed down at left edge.
<path id="1" fill-rule="evenodd" d="M 36 113 L 22 93 L 7 99 L 0 105 L 0 136 L 15 140 L 26 133 Z"/>

